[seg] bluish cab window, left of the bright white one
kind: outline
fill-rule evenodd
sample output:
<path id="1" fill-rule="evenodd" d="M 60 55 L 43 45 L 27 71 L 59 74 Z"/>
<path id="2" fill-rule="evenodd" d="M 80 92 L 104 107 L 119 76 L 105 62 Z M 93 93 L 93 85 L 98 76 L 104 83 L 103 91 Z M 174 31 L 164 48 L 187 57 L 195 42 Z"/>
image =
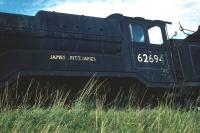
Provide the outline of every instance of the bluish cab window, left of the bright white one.
<path id="1" fill-rule="evenodd" d="M 132 42 L 145 42 L 144 27 L 140 24 L 129 24 L 131 41 Z"/>

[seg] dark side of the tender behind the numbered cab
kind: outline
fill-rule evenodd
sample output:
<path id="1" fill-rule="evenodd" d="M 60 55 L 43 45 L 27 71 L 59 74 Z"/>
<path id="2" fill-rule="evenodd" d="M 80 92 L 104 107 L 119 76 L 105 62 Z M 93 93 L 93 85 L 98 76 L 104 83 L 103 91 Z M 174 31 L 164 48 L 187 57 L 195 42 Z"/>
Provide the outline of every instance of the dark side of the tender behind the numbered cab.
<path id="1" fill-rule="evenodd" d="M 200 42 L 171 40 L 177 84 L 200 86 Z"/>

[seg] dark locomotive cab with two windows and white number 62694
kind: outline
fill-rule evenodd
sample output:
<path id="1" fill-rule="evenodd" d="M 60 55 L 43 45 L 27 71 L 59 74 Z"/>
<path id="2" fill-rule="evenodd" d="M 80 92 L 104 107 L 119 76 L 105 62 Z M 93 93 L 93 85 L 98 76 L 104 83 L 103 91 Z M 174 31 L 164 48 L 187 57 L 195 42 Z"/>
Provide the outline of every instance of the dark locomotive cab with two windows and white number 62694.
<path id="1" fill-rule="evenodd" d="M 132 72 L 148 87 L 173 85 L 173 64 L 166 24 L 160 20 L 127 18 Z"/>

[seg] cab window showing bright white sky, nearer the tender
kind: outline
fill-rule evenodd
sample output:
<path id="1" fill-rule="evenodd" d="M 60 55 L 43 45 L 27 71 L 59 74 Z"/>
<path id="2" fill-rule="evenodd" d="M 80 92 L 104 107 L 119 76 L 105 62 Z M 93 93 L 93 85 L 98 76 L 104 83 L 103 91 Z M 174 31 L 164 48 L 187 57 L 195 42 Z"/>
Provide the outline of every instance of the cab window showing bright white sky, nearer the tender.
<path id="1" fill-rule="evenodd" d="M 163 37 L 160 27 L 154 26 L 148 29 L 150 44 L 162 45 Z"/>

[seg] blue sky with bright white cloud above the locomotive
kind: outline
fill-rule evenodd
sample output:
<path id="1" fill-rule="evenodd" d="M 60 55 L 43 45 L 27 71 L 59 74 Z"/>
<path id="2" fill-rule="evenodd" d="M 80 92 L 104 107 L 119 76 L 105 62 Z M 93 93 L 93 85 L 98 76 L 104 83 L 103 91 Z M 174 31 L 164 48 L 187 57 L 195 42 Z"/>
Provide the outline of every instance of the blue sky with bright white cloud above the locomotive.
<path id="1" fill-rule="evenodd" d="M 0 12 L 35 15 L 39 10 L 107 17 L 113 13 L 143 17 L 150 20 L 172 22 L 168 25 L 169 37 L 185 38 L 179 31 L 184 28 L 196 31 L 200 25 L 200 0 L 0 0 Z M 190 32 L 189 32 L 190 33 Z"/>

